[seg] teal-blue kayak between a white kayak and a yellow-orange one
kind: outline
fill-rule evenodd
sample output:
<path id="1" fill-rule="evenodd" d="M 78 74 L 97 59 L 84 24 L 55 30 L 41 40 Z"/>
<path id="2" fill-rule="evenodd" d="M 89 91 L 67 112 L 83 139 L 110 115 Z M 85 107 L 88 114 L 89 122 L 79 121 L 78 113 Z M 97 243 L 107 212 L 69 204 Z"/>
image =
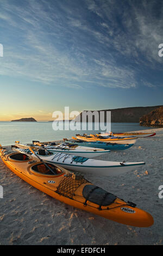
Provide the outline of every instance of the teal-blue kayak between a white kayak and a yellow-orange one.
<path id="1" fill-rule="evenodd" d="M 108 149 L 111 151 L 121 151 L 121 150 L 129 149 L 134 145 L 134 144 L 117 144 L 117 143 L 101 142 L 101 141 L 86 142 L 86 141 L 81 141 L 79 139 L 76 139 L 74 137 L 72 137 L 72 139 L 73 141 L 67 141 L 65 142 L 65 144 L 82 145 L 84 147 Z"/>

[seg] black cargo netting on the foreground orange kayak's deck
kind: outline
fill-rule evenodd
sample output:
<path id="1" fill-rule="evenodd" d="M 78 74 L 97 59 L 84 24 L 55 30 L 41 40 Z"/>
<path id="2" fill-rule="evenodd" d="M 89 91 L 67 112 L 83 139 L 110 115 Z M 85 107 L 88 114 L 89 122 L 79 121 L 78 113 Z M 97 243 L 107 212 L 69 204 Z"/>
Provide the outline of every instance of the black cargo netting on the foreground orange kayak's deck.
<path id="1" fill-rule="evenodd" d="M 68 174 L 64 176 L 64 179 L 61 180 L 56 193 L 60 194 L 61 196 L 71 198 L 74 195 L 74 192 L 77 188 L 82 185 L 83 183 L 87 183 L 86 179 L 83 178 L 80 174 Z"/>

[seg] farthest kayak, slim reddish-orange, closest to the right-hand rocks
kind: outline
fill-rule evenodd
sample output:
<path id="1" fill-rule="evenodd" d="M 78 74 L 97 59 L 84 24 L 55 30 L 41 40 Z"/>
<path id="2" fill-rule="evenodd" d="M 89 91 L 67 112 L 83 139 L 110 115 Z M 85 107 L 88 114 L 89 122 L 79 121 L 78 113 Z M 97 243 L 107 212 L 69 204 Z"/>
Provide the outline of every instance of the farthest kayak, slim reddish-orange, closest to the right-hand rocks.
<path id="1" fill-rule="evenodd" d="M 137 138 L 143 137 L 152 137 L 155 136 L 156 133 L 152 132 L 105 132 L 105 133 L 98 133 L 97 136 L 117 136 L 117 137 L 129 137 L 129 136 L 136 136 Z"/>

